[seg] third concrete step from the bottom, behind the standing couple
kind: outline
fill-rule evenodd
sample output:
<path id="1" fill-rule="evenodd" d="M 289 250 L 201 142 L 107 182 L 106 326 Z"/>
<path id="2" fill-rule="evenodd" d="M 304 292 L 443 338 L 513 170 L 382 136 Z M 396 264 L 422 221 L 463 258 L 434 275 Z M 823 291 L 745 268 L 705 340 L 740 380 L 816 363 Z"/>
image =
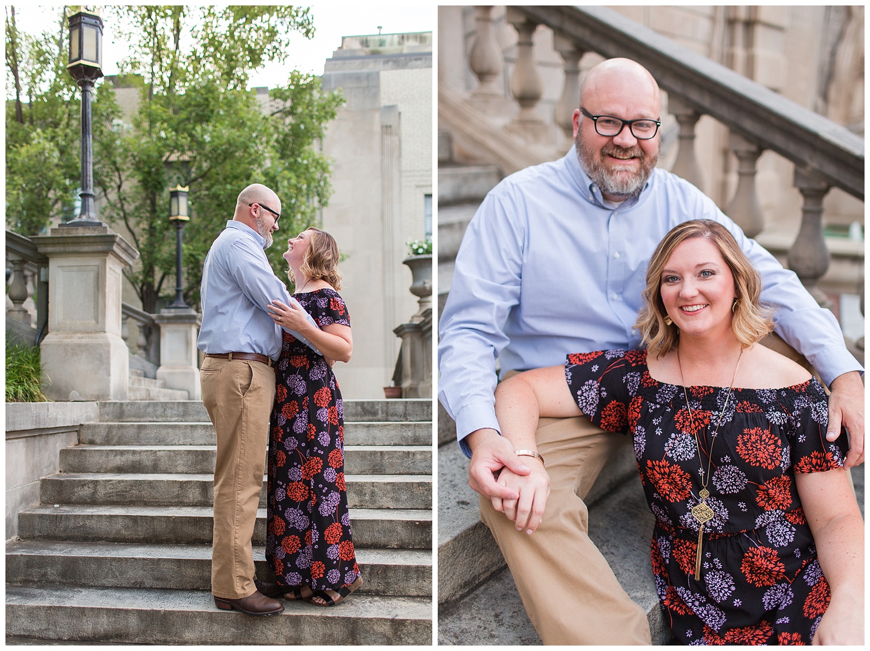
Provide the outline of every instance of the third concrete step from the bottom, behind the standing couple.
<path id="1" fill-rule="evenodd" d="M 266 509 L 257 511 L 253 543 L 265 544 Z M 358 548 L 431 549 L 432 511 L 351 508 Z M 21 540 L 211 544 L 211 507 L 42 505 L 18 515 Z"/>

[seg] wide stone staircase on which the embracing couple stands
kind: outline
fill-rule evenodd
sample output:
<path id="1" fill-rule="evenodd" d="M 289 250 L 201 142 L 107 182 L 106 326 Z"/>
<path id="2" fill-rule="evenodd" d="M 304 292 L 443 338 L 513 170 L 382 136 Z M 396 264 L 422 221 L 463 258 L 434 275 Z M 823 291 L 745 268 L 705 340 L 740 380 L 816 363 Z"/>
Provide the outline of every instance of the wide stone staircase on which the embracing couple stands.
<path id="1" fill-rule="evenodd" d="M 202 403 L 99 408 L 7 545 L 8 644 L 432 643 L 431 401 L 345 401 L 365 584 L 338 608 L 287 601 L 264 618 L 218 610 L 211 598 L 215 445 Z M 264 541 L 265 482 L 254 559 L 268 581 Z"/>

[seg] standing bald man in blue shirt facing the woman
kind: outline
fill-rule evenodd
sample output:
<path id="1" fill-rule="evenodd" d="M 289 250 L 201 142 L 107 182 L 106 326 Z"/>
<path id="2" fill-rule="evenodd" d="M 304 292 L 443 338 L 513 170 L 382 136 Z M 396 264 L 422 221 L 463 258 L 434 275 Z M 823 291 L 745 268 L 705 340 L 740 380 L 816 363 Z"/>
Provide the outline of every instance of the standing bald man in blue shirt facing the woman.
<path id="1" fill-rule="evenodd" d="M 251 550 L 282 344 L 266 306 L 276 298 L 290 302 L 264 253 L 280 213 L 271 189 L 260 183 L 243 189 L 235 215 L 205 258 L 200 291 L 197 348 L 205 360 L 199 378 L 218 441 L 211 594 L 218 608 L 251 615 L 284 610 L 271 598 L 282 594 L 278 585 L 256 578 Z"/>

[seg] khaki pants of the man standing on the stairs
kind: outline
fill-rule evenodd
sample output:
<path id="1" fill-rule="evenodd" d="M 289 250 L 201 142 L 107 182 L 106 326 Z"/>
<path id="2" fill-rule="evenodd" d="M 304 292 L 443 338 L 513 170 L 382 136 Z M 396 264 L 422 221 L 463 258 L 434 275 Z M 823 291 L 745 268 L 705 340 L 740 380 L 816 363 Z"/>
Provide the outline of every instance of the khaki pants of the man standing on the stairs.
<path id="1" fill-rule="evenodd" d="M 275 369 L 261 362 L 206 357 L 199 380 L 218 434 L 211 594 L 242 599 L 257 591 L 251 537 L 263 490 Z"/>

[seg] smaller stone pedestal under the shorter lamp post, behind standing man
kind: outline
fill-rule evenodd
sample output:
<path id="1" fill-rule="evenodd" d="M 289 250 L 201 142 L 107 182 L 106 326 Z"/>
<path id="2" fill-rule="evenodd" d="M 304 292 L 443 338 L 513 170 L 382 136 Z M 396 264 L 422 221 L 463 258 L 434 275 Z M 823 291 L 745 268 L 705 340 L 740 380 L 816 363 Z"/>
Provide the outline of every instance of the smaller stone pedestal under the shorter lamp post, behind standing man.
<path id="1" fill-rule="evenodd" d="M 203 317 L 191 308 L 164 308 L 154 315 L 160 324 L 160 368 L 157 380 L 166 389 L 187 391 L 188 400 L 202 400 L 197 369 L 197 336 Z"/>

